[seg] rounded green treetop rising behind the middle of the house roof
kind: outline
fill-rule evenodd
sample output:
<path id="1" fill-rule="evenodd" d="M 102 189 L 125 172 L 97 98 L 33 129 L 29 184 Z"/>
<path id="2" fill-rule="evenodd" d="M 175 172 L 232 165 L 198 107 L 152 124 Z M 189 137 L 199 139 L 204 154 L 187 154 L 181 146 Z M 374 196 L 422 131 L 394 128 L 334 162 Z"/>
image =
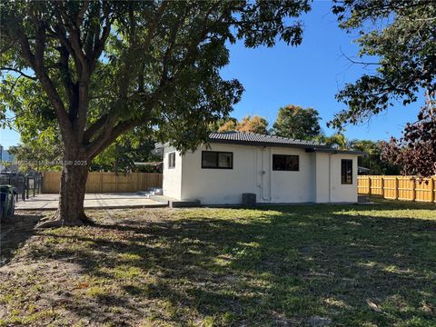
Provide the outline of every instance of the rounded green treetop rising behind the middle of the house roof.
<path id="1" fill-rule="evenodd" d="M 313 108 L 289 104 L 279 109 L 272 134 L 310 140 L 321 134 L 320 116 Z"/>

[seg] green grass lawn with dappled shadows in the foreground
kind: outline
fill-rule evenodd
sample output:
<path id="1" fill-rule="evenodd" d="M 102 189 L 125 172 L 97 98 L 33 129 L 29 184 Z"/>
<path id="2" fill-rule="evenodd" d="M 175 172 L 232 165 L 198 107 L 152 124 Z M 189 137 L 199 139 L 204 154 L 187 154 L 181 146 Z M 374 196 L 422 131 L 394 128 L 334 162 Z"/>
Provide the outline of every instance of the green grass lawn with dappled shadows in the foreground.
<path id="1" fill-rule="evenodd" d="M 435 209 L 90 211 L 11 253 L 0 325 L 435 326 Z"/>

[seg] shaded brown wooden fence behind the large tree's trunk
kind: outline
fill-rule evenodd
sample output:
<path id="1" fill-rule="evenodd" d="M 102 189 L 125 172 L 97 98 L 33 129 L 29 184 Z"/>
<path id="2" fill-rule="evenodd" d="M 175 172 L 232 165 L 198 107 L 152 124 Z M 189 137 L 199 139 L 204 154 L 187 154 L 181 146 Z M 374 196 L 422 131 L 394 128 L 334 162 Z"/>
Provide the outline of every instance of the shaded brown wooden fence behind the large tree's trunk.
<path id="1" fill-rule="evenodd" d="M 60 172 L 45 172 L 43 193 L 59 193 Z M 86 193 L 130 193 L 162 187 L 162 173 L 88 173 Z"/>

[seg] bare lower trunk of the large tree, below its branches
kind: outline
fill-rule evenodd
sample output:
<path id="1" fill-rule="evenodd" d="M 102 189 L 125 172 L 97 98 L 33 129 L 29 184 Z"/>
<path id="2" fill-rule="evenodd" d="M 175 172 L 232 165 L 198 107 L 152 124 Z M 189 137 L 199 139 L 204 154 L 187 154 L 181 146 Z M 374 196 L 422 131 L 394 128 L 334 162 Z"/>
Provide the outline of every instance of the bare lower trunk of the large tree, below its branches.
<path id="1" fill-rule="evenodd" d="M 65 162 L 61 175 L 59 207 L 53 217 L 38 224 L 39 228 L 81 226 L 91 223 L 84 214 L 84 191 L 88 177 L 88 167 L 84 163 L 86 162 Z"/>

